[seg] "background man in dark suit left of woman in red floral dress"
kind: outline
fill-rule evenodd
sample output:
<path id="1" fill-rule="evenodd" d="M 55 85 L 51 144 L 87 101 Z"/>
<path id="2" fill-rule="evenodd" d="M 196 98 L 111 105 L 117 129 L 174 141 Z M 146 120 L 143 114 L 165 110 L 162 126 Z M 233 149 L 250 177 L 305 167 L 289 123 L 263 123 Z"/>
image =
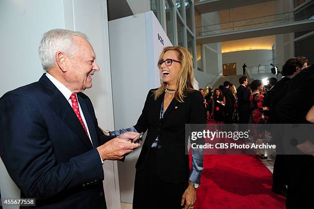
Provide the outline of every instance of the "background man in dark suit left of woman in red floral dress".
<path id="1" fill-rule="evenodd" d="M 230 82 L 224 82 L 224 88 L 222 89 L 222 93 L 226 99 L 226 116 L 225 123 L 232 124 L 232 112 L 234 110 L 234 96 L 231 90 L 229 89 Z"/>

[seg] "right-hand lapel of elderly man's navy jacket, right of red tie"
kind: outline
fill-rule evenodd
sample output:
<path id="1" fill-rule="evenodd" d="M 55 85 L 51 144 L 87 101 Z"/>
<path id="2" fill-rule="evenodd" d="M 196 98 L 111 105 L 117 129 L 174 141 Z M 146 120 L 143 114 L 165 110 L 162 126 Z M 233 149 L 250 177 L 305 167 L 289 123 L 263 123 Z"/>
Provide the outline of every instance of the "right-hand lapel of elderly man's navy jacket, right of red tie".
<path id="1" fill-rule="evenodd" d="M 77 99 L 78 99 L 78 102 L 80 103 L 80 106 L 82 108 L 82 112 L 84 114 L 84 118 L 85 118 L 87 126 L 88 126 L 88 130 L 89 130 L 90 138 L 93 142 L 93 146 L 97 147 L 97 146 L 99 146 L 99 143 L 97 140 L 97 134 L 96 134 L 94 122 L 90 116 L 90 113 L 88 111 L 85 100 L 78 93 L 77 93 Z"/>

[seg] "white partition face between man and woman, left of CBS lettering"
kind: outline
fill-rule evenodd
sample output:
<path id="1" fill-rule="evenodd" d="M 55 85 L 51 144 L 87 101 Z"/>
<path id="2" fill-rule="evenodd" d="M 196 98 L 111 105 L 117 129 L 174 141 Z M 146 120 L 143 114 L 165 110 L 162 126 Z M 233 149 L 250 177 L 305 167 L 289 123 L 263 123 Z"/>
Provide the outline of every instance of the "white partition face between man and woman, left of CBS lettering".
<path id="1" fill-rule="evenodd" d="M 144 14 L 109 22 L 115 130 L 136 124 L 148 93 Z M 128 38 L 126 38 L 128 36 Z M 112 130 L 112 129 L 111 129 Z M 121 201 L 132 203 L 141 148 L 118 163 Z"/>

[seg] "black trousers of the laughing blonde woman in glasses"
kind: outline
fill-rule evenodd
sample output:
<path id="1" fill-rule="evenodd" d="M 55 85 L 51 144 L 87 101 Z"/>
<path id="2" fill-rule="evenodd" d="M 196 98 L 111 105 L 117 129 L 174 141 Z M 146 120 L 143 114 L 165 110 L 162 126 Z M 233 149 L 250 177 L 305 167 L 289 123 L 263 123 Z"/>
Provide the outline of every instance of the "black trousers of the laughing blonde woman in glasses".
<path id="1" fill-rule="evenodd" d="M 156 169 L 156 152 L 156 148 L 151 148 L 145 169 L 136 170 L 133 209 L 182 208 L 181 199 L 188 180 L 180 184 L 162 181 Z"/>

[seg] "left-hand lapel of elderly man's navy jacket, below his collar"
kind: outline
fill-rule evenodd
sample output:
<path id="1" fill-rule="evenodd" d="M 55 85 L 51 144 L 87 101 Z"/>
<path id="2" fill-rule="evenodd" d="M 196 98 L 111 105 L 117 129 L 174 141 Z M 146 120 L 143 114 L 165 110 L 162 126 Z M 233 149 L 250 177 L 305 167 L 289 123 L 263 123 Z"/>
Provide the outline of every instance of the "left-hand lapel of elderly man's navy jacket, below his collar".
<path id="1" fill-rule="evenodd" d="M 74 131 L 78 137 L 80 137 L 81 140 L 83 140 L 89 149 L 92 149 L 93 146 L 86 135 L 82 124 L 78 121 L 77 116 L 75 115 L 69 102 L 60 90 L 53 85 L 53 83 L 46 77 L 45 73 L 39 82 L 42 84 L 43 92 L 52 97 L 49 103 L 50 108 Z"/>

